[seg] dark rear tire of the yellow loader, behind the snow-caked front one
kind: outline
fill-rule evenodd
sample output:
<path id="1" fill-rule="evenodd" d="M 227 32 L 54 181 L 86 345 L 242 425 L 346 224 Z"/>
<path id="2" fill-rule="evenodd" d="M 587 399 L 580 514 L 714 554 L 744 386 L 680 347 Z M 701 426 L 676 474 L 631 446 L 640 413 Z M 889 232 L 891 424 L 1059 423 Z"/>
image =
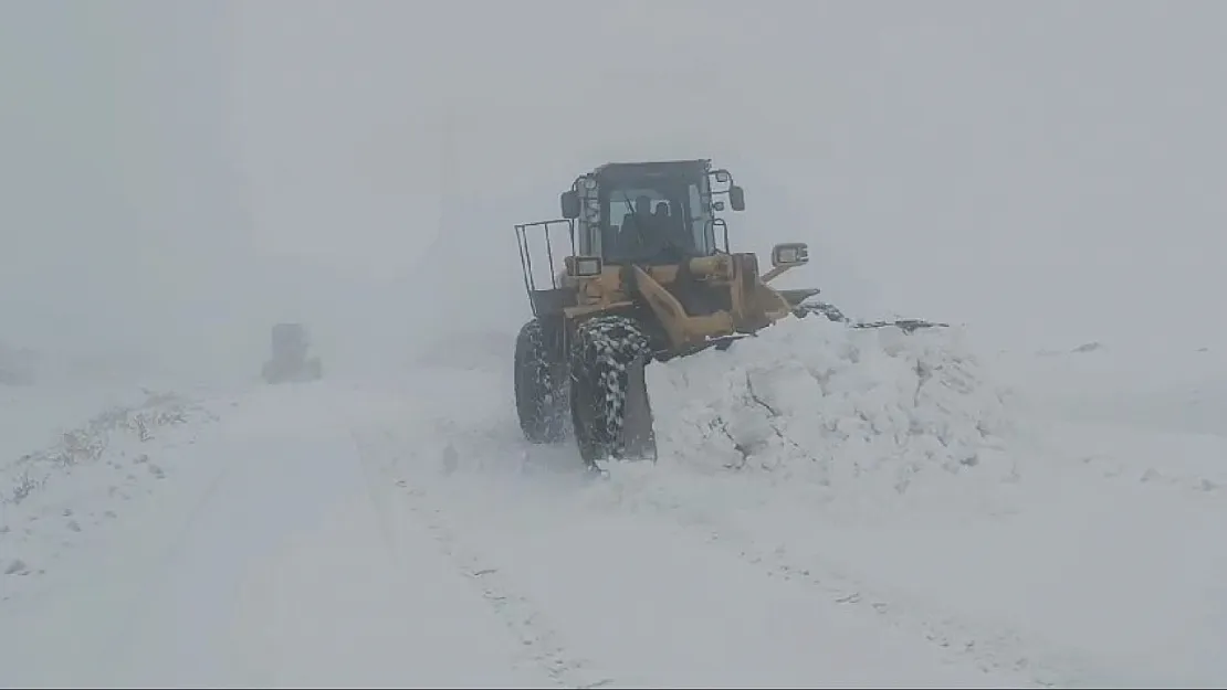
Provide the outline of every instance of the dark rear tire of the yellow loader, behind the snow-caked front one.
<path id="1" fill-rule="evenodd" d="M 556 444 L 566 438 L 562 381 L 555 381 L 545 332 L 536 319 L 515 338 L 515 412 L 520 430 L 533 444 Z"/>

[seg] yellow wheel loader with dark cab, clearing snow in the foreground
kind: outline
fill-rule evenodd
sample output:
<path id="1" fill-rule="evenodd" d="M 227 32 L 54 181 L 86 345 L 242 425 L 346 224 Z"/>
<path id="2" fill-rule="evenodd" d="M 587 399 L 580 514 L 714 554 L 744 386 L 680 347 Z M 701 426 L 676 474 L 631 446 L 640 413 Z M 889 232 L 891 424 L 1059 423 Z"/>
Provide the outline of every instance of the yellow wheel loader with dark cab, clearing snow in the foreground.
<path id="1" fill-rule="evenodd" d="M 809 262 L 804 243 L 777 244 L 767 271 L 755 254 L 729 250 L 718 213 L 745 210 L 745 192 L 708 159 L 609 163 L 577 178 L 561 206 L 561 219 L 515 226 L 533 309 L 515 341 L 515 407 L 534 444 L 566 440 L 569 417 L 589 467 L 655 458 L 649 362 L 725 348 L 789 315 L 847 321 L 828 304 L 806 301 L 818 289 L 771 287 Z M 551 240 L 562 230 L 569 255 L 558 267 L 562 251 Z M 545 240 L 548 286 L 534 276 L 533 237 Z"/>

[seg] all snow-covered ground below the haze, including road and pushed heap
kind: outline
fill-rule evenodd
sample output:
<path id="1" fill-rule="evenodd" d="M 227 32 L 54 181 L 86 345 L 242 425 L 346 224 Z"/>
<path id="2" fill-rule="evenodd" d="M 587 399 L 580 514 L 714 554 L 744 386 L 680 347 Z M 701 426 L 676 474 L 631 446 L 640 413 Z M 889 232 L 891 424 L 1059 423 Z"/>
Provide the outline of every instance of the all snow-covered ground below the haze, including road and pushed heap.
<path id="1" fill-rule="evenodd" d="M 523 441 L 510 336 L 467 342 L 6 439 L 45 482 L 4 504 L 0 679 L 1227 683 L 1221 353 L 794 320 L 649 368 L 659 462 L 593 477 Z"/>

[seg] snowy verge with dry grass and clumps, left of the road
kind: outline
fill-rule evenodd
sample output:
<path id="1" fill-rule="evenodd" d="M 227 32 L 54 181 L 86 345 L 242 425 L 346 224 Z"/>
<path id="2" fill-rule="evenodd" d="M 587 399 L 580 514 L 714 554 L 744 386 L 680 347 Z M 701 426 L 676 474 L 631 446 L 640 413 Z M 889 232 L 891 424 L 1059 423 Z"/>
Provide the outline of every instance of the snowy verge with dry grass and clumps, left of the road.
<path id="1" fill-rule="evenodd" d="M 22 392 L 23 398 L 7 398 L 5 409 L 0 601 L 40 580 L 74 545 L 128 512 L 130 501 L 178 474 L 183 446 L 216 419 L 210 409 L 167 393 L 120 389 L 58 396 L 44 387 Z M 91 403 L 96 413 L 85 418 Z M 55 418 L 72 422 L 53 431 L 48 427 Z M 15 450 L 36 438 L 47 445 Z"/>

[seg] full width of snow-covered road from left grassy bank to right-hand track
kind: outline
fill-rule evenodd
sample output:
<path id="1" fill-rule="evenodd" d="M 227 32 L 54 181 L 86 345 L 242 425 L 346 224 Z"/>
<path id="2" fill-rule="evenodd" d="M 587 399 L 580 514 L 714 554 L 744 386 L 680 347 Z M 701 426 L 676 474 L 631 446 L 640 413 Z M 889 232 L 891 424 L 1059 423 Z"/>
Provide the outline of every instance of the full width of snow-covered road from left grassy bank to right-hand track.
<path id="1" fill-rule="evenodd" d="M 447 455 L 394 431 L 404 400 L 266 393 L 194 446 L 177 490 L 10 607 L 6 685 L 984 681 L 693 527 L 568 500 L 577 472 L 449 491 Z"/>

